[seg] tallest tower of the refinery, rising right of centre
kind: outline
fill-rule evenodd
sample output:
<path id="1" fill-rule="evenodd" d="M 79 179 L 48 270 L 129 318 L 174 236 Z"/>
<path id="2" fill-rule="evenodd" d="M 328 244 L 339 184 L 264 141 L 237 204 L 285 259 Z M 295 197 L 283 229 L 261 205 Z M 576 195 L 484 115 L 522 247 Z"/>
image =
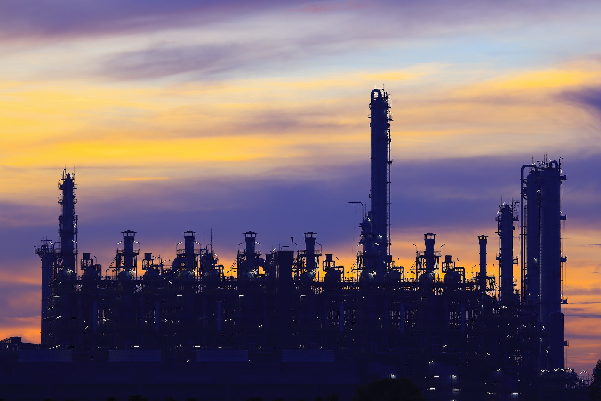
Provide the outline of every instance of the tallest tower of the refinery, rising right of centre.
<path id="1" fill-rule="evenodd" d="M 383 89 L 371 91 L 371 234 L 364 243 L 364 253 L 371 252 L 369 259 L 373 261 L 370 270 L 376 273 L 376 280 L 381 281 L 385 272 L 384 264 L 390 253 L 390 122 L 388 113 L 390 100 Z M 367 245 L 367 246 L 366 246 Z"/>

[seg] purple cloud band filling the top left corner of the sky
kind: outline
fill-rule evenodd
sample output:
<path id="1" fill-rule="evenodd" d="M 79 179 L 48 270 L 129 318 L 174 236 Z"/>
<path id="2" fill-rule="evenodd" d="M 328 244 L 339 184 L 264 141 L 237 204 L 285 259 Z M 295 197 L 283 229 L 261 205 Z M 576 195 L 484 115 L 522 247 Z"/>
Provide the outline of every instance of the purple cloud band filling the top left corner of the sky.
<path id="1" fill-rule="evenodd" d="M 78 36 L 157 30 L 212 23 L 279 2 L 216 0 L 106 0 L 0 2 L 0 36 Z"/>

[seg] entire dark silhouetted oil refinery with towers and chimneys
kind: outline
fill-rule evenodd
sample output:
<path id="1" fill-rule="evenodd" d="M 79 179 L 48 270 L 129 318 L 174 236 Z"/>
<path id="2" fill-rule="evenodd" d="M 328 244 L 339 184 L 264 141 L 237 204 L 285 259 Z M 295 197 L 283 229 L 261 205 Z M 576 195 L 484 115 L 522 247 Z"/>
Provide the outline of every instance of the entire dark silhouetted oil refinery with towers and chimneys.
<path id="1" fill-rule="evenodd" d="M 413 266 L 397 266 L 390 108 L 388 93 L 374 89 L 371 204 L 361 204 L 369 210 L 350 268 L 316 249 L 313 231 L 296 252 L 264 251 L 260 234 L 241 234 L 229 276 L 194 231 L 183 232 L 181 249 L 165 261 L 141 253 L 131 230 L 103 267 L 92 252 L 79 258 L 75 174 L 64 171 L 59 239 L 35 247 L 41 344 L 16 346 L 18 360 L 5 359 L 4 398 L 75 397 L 73 388 L 86 385 L 94 388 L 88 399 L 127 391 L 159 399 L 153 386 L 161 384 L 166 396 L 201 389 L 207 400 L 350 399 L 359 384 L 401 376 L 428 400 L 535 400 L 549 392 L 561 399 L 586 387 L 588 378 L 564 365 L 561 158 L 516 166 L 520 199 L 496 212 L 499 242 L 474 238 L 480 260 L 471 278 L 435 250 L 432 232 Z M 10 349 L 10 339 L 3 344 Z M 17 385 L 31 384 L 27 374 L 47 377 L 15 395 Z"/>

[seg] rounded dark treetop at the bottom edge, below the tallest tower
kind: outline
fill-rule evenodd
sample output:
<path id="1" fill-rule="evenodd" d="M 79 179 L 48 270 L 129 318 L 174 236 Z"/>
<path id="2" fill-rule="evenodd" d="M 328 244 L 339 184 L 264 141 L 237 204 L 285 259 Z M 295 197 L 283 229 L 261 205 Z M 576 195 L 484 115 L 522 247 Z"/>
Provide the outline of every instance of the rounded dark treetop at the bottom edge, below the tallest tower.
<path id="1" fill-rule="evenodd" d="M 406 378 L 382 379 L 362 385 L 355 391 L 353 401 L 426 401 L 421 390 Z"/>

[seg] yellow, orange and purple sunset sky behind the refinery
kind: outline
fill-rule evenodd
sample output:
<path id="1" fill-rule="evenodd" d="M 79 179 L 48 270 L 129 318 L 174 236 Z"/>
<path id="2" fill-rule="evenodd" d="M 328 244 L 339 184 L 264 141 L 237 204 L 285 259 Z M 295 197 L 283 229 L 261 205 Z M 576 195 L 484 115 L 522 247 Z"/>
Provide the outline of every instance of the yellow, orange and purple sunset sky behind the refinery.
<path id="1" fill-rule="evenodd" d="M 567 366 L 591 373 L 600 20 L 598 1 L 0 2 L 0 337 L 40 341 L 32 248 L 57 237 L 64 168 L 79 250 L 103 266 L 121 231 L 170 259 L 192 229 L 226 268 L 248 230 L 263 252 L 317 232 L 350 267 L 361 211 L 347 202 L 368 203 L 368 103 L 384 87 L 407 269 L 432 231 L 468 272 L 489 235 L 492 273 L 520 167 L 564 158 Z"/>

